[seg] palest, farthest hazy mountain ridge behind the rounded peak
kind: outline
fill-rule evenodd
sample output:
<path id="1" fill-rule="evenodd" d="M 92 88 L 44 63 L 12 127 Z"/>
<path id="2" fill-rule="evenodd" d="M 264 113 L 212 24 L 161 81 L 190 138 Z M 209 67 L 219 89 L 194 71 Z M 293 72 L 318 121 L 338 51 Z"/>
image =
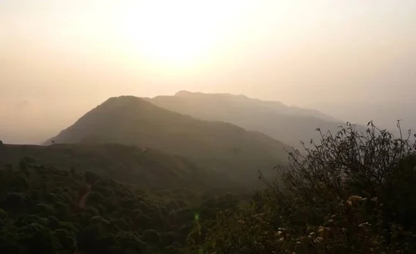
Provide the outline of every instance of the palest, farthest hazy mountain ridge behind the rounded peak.
<path id="1" fill-rule="evenodd" d="M 316 128 L 336 133 L 339 126 L 345 126 L 345 123 L 315 110 L 287 107 L 277 101 L 261 101 L 243 95 L 181 91 L 175 96 L 147 100 L 198 119 L 226 121 L 247 130 L 257 130 L 295 147 L 300 146 L 301 140 L 305 143 L 311 139 L 319 141 Z"/>

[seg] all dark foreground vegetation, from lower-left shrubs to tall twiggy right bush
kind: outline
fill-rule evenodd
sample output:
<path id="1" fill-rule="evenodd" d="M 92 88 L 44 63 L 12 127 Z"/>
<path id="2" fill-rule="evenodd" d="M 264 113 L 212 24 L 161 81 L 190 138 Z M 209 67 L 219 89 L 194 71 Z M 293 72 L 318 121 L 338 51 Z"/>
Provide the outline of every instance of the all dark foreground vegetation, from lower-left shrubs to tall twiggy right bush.
<path id="1" fill-rule="evenodd" d="M 2 253 L 415 253 L 416 144 L 372 123 L 290 153 L 245 194 L 143 189 L 105 171 L 0 171 Z M 183 183 L 182 183 L 183 184 Z M 196 202 L 198 201 L 198 202 Z M 246 202 L 247 201 L 247 202 Z"/>

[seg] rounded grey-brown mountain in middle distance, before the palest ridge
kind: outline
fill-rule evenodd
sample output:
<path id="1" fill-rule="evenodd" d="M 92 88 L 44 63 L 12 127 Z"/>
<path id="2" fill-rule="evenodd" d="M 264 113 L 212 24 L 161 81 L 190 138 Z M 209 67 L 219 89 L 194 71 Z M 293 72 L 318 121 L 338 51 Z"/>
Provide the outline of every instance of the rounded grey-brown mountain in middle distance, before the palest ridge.
<path id="1" fill-rule="evenodd" d="M 58 143 L 118 143 L 181 155 L 233 178 L 256 178 L 258 169 L 286 162 L 283 144 L 263 133 L 202 121 L 135 96 L 113 97 L 53 137 Z M 50 140 L 50 142 L 51 142 Z M 50 143 L 49 143 L 50 144 Z"/>

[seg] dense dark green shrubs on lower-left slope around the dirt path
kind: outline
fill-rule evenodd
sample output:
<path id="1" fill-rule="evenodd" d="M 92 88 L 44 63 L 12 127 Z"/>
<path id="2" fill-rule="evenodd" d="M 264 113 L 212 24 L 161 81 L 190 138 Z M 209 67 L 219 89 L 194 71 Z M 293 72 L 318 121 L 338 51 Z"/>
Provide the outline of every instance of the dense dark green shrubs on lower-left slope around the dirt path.
<path id="1" fill-rule="evenodd" d="M 196 197 L 199 203 L 193 203 Z M 24 158 L 0 171 L 1 253 L 181 253 L 193 221 L 241 197 L 194 189 L 145 192 L 92 171 Z"/>

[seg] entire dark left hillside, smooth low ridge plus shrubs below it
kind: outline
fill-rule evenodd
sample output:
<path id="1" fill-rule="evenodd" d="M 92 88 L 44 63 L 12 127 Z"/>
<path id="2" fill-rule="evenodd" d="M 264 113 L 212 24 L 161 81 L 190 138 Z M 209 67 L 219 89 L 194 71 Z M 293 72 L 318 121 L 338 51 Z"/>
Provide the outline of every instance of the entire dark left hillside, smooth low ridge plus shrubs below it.
<path id="1" fill-rule="evenodd" d="M 250 201 L 245 189 L 208 183 L 186 160 L 153 149 L 5 145 L 4 152 L 1 253 L 182 253 L 196 214 L 208 221 Z"/>

